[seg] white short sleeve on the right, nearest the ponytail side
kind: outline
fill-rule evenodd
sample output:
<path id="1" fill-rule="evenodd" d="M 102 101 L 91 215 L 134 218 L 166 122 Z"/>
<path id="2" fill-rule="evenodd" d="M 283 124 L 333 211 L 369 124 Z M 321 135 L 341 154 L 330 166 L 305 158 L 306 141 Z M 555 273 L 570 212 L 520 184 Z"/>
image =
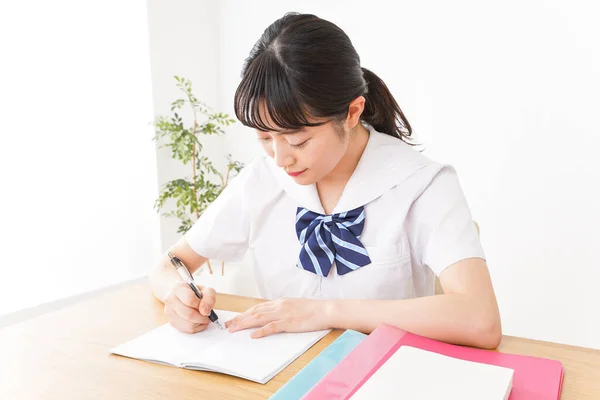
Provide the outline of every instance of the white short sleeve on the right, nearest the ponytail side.
<path id="1" fill-rule="evenodd" d="M 413 252 L 439 275 L 466 258 L 483 258 L 471 210 L 454 168 L 442 167 L 413 202 L 407 219 Z"/>

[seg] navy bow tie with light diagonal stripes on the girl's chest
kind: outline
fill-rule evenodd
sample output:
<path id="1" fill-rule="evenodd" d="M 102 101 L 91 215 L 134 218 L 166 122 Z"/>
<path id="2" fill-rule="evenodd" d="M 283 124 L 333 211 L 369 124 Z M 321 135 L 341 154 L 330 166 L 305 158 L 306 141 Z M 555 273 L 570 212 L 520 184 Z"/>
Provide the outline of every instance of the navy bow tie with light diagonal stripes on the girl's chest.
<path id="1" fill-rule="evenodd" d="M 364 225 L 364 207 L 333 215 L 298 207 L 296 235 L 302 245 L 298 267 L 327 276 L 334 260 L 339 275 L 370 264 L 359 240 Z"/>

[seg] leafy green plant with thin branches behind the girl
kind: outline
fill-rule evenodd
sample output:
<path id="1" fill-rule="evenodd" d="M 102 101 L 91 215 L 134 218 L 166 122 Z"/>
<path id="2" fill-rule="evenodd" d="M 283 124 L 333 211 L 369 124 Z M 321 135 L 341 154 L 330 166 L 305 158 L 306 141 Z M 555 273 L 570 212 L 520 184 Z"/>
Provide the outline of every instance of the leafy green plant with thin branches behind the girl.
<path id="1" fill-rule="evenodd" d="M 225 171 L 220 172 L 208 157 L 202 155 L 201 136 L 224 134 L 224 128 L 235 123 L 235 120 L 227 114 L 213 112 L 199 101 L 192 92 L 189 80 L 178 76 L 174 78 L 183 96 L 171 103 L 170 115 L 155 119 L 154 140 L 162 143 L 161 148 L 169 147 L 173 159 L 189 165 L 189 175 L 165 183 L 154 207 L 158 212 L 162 210 L 165 217 L 178 218 L 180 225 L 177 232 L 184 234 L 240 172 L 243 165 L 228 155 Z M 187 123 L 180 115 L 184 107 L 191 111 L 191 120 Z M 173 202 L 174 207 L 165 211 Z M 214 269 L 210 260 L 206 265 L 212 275 Z M 223 261 L 221 275 L 225 275 Z"/>

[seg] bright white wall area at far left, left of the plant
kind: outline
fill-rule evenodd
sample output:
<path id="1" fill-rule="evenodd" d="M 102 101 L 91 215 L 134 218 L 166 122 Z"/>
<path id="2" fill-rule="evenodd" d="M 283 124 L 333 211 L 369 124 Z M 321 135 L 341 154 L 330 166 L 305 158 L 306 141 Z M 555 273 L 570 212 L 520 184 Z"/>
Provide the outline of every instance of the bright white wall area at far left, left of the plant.
<path id="1" fill-rule="evenodd" d="M 0 40 L 0 315 L 144 275 L 160 251 L 145 3 L 2 2 Z"/>

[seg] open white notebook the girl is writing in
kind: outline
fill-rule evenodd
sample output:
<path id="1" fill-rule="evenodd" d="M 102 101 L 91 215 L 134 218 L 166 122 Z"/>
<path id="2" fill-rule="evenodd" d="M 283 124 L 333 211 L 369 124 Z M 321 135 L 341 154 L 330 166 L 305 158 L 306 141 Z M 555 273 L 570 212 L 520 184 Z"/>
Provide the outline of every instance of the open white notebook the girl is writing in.
<path id="1" fill-rule="evenodd" d="M 215 310 L 215 313 L 223 323 L 238 314 L 223 310 Z M 210 324 L 203 332 L 187 334 L 165 324 L 110 349 L 110 352 L 174 367 L 219 372 L 264 384 L 329 333 L 329 330 L 279 333 L 252 339 L 252 331 L 229 333 Z"/>

